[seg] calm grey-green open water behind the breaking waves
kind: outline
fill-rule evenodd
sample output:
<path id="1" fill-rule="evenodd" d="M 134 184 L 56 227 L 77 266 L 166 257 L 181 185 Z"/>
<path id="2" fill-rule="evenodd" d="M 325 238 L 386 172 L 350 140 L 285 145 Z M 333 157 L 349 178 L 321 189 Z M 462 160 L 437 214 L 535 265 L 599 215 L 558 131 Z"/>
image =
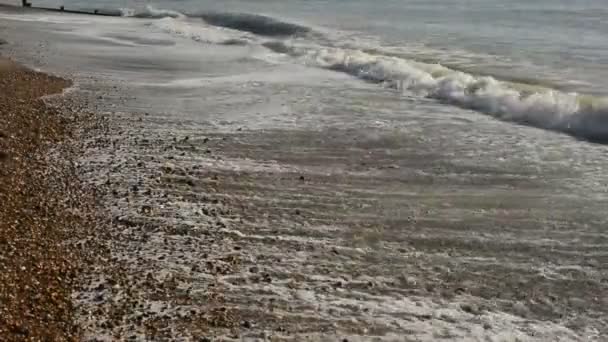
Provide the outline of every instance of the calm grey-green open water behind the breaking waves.
<path id="1" fill-rule="evenodd" d="M 340 31 L 358 48 L 391 47 L 501 77 L 552 81 L 607 94 L 608 12 L 601 0 L 576 1 L 37 1 L 67 7 L 146 5 L 191 16 L 210 12 L 265 14 Z M 336 32 L 333 32 L 336 33 Z M 336 33 L 337 34 L 337 33 Z M 340 37 L 343 39 L 344 37 Z M 338 39 L 340 40 L 340 39 Z"/>

